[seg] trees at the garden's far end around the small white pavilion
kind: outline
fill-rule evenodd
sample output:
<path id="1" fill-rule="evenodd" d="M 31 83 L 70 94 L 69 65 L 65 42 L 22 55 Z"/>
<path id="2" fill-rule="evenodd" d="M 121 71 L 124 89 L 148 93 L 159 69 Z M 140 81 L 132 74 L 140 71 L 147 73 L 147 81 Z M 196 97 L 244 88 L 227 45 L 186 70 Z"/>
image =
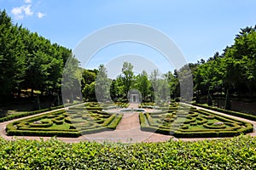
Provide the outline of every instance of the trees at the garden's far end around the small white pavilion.
<path id="1" fill-rule="evenodd" d="M 115 78 L 108 78 L 104 65 L 96 70 L 84 70 L 82 74 L 82 94 L 85 100 L 128 101 L 129 92 L 137 89 L 143 101 L 175 99 L 179 96 L 177 74 L 168 71 L 160 74 L 159 70 L 151 73 L 142 71 L 135 74 L 133 65 L 124 62 L 122 72 Z"/>

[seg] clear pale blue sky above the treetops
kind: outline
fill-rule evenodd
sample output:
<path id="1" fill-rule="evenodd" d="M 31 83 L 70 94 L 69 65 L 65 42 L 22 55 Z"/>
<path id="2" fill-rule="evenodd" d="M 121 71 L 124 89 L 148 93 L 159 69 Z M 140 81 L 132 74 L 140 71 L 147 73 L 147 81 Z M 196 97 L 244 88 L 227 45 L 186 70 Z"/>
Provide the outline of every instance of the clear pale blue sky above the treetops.
<path id="1" fill-rule="evenodd" d="M 172 38 L 188 62 L 222 53 L 240 28 L 256 24 L 254 0 L 0 0 L 0 8 L 14 23 L 72 49 L 102 27 L 152 26 Z M 161 54 L 134 43 L 102 49 L 87 67 L 106 64 L 122 54 L 146 56 L 163 72 L 173 69 Z"/>

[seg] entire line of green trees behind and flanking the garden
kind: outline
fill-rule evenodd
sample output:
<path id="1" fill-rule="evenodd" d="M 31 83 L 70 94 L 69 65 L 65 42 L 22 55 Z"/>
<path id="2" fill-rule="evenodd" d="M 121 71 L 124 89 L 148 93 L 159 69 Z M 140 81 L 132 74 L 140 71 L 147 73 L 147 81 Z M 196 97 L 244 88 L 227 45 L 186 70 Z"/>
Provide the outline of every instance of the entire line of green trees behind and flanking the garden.
<path id="1" fill-rule="evenodd" d="M 12 24 L 4 10 L 0 11 L 0 32 L 0 100 L 20 97 L 21 90 L 26 89 L 31 89 L 32 96 L 34 90 L 41 94 L 61 95 L 62 73 L 72 50 Z M 246 96 L 253 99 L 256 92 L 256 26 L 241 29 L 234 44 L 224 48 L 222 54 L 217 52 L 207 61 L 201 59 L 186 66 L 193 76 L 195 96 L 214 96 L 229 91 L 238 98 Z M 164 75 L 157 70 L 135 75 L 131 63 L 125 62 L 122 73 L 115 80 L 108 79 L 104 65 L 94 70 L 80 68 L 82 77 L 79 83 L 85 100 L 95 100 L 96 95 L 104 98 L 108 94 L 113 100 L 126 99 L 131 88 L 138 89 L 145 101 L 177 99 L 180 77 L 188 72 L 186 66 Z M 97 86 L 109 88 L 97 94 Z M 160 90 L 157 96 L 155 89 Z"/>

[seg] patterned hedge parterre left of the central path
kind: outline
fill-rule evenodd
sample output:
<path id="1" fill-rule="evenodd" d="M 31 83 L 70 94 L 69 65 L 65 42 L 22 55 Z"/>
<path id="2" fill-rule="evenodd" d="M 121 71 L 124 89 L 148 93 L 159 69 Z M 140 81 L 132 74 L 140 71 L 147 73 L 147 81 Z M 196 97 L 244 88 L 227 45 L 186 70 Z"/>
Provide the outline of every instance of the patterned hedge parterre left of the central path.
<path id="1" fill-rule="evenodd" d="M 97 105 L 98 106 L 98 105 Z M 9 135 L 79 137 L 82 134 L 113 130 L 123 114 L 109 114 L 102 108 L 73 107 L 43 116 L 33 116 L 7 126 Z"/>

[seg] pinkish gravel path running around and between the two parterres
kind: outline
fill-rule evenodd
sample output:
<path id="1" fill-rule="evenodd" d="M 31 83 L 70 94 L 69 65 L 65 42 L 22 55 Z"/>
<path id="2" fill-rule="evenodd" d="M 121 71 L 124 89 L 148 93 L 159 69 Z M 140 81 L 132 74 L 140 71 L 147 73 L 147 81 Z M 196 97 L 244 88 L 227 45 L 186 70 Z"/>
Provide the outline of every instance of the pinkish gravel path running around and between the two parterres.
<path id="1" fill-rule="evenodd" d="M 81 104 L 80 104 L 81 105 Z M 185 104 L 189 105 L 189 104 Z M 205 108 L 201 108 L 198 106 L 194 105 L 189 105 L 193 106 L 197 109 L 201 109 L 204 111 L 210 111 Z M 128 108 L 137 108 L 137 104 L 131 104 L 129 105 Z M 59 109 L 61 110 L 61 109 Z M 55 111 L 59 111 L 55 110 Z M 47 111 L 44 113 L 40 113 L 38 115 L 43 115 L 45 113 L 49 113 L 52 111 Z M 254 121 L 249 121 L 247 119 L 237 117 L 237 116 L 230 116 L 224 113 L 220 113 L 218 111 L 212 111 L 218 115 L 222 116 L 229 116 L 231 118 L 235 118 L 244 122 L 250 122 L 253 124 L 254 131 L 253 133 L 249 133 L 251 136 L 256 136 L 255 133 L 255 127 L 256 127 L 256 122 Z M 37 116 L 38 116 L 37 115 Z M 21 119 L 31 117 L 31 116 L 26 116 L 22 117 L 19 119 L 15 119 L 9 122 L 14 122 L 14 121 L 19 121 Z M 32 136 L 21 136 L 21 137 L 13 137 L 13 136 L 7 136 L 5 132 L 5 127 L 9 122 L 2 122 L 0 123 L 0 134 L 4 139 L 9 139 L 9 140 L 15 140 L 15 139 L 50 139 L 50 137 L 32 137 Z M 80 141 L 97 141 L 97 142 L 123 142 L 123 143 L 137 143 L 137 142 L 163 142 L 167 140 L 178 140 L 176 138 L 173 138 L 170 135 L 164 135 L 160 133 L 150 133 L 150 132 L 144 132 L 140 129 L 140 124 L 139 124 L 139 118 L 138 118 L 138 113 L 137 112 L 125 112 L 122 120 L 119 122 L 118 127 L 114 131 L 105 131 L 101 133 L 92 133 L 92 134 L 86 134 L 84 136 L 80 136 L 79 138 L 57 138 L 61 139 L 64 142 L 67 143 L 79 143 Z M 203 140 L 203 139 L 218 139 L 218 138 L 201 138 L 201 139 L 180 139 L 183 141 L 196 141 L 196 140 Z"/>

